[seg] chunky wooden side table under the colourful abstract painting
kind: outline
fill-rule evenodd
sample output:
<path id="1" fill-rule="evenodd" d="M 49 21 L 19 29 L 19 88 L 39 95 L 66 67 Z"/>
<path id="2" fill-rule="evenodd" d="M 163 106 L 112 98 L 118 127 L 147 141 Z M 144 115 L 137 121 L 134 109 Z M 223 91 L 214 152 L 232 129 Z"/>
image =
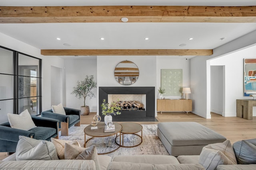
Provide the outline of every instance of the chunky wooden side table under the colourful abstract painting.
<path id="1" fill-rule="evenodd" d="M 253 106 L 256 106 L 256 100 L 237 99 L 236 100 L 236 116 L 251 120 Z"/>

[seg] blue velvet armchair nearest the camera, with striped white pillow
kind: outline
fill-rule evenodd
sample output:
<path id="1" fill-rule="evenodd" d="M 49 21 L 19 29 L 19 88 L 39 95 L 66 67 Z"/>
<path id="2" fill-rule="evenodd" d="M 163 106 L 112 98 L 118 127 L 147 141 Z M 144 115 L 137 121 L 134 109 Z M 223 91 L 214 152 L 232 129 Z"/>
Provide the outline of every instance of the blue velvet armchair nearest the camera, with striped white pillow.
<path id="1" fill-rule="evenodd" d="M 37 127 L 28 131 L 14 129 L 10 127 L 9 122 L 0 124 L 0 152 L 15 152 L 19 136 L 46 141 L 50 141 L 52 137 L 58 139 L 60 121 L 35 115 L 31 117 Z"/>

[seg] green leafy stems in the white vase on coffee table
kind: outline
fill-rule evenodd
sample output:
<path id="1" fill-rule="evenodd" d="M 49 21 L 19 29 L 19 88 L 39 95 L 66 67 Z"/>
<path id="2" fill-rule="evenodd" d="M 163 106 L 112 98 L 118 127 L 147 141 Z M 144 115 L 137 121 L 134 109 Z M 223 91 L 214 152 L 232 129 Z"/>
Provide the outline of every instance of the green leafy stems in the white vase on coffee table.
<path id="1" fill-rule="evenodd" d="M 116 102 L 112 102 L 111 105 L 109 105 L 108 103 L 106 103 L 106 99 L 103 99 L 101 108 L 102 115 L 110 115 L 111 113 L 113 113 L 114 115 L 121 114 L 121 112 L 119 112 L 119 110 L 121 110 L 121 107 Z"/>

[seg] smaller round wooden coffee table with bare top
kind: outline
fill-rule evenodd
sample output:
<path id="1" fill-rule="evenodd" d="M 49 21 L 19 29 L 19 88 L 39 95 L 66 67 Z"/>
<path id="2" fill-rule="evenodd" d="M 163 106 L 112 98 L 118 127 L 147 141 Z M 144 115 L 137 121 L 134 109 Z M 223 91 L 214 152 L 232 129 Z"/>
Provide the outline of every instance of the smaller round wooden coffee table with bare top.
<path id="1" fill-rule="evenodd" d="M 117 145 L 120 145 L 121 147 L 126 147 L 126 148 L 132 148 L 132 147 L 137 147 L 142 143 L 142 125 L 138 124 L 138 123 L 133 123 L 133 122 L 124 122 L 124 123 L 120 123 L 122 125 L 122 145 L 121 145 L 121 140 L 120 140 L 120 144 L 118 144 L 116 142 Z M 136 133 L 141 132 L 141 135 L 138 135 Z M 132 134 L 132 135 L 137 135 L 138 137 L 140 137 L 141 141 L 140 143 L 138 143 L 137 145 L 133 145 L 133 146 L 124 146 L 124 135 L 125 134 Z M 116 136 L 117 138 L 118 136 Z M 116 141 L 116 139 L 115 139 Z"/>

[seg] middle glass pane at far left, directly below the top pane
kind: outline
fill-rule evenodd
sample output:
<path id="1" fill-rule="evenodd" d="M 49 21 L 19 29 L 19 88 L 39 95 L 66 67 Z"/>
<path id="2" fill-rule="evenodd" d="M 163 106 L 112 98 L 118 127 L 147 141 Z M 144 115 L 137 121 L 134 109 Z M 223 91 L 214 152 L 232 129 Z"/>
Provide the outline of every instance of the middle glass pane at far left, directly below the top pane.
<path id="1" fill-rule="evenodd" d="M 0 100 L 13 99 L 13 76 L 0 74 Z"/>

